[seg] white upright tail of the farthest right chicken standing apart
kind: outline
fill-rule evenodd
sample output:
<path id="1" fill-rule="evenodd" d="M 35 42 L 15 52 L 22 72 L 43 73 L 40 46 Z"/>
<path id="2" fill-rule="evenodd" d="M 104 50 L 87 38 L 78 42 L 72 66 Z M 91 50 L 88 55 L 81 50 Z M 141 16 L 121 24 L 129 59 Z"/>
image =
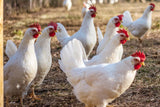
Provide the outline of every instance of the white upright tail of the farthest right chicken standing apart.
<path id="1" fill-rule="evenodd" d="M 123 23 L 122 25 L 125 26 L 125 27 L 128 27 L 132 22 L 132 17 L 131 17 L 131 14 L 129 11 L 125 11 L 123 13 L 124 17 L 123 17 Z"/>

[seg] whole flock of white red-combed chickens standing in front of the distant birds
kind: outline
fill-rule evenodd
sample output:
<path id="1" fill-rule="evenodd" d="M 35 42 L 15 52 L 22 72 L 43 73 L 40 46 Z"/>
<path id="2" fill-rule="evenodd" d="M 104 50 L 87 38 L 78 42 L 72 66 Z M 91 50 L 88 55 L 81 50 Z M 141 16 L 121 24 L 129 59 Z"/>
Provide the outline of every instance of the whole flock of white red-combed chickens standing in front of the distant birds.
<path id="1" fill-rule="evenodd" d="M 136 21 L 132 20 L 129 11 L 112 17 L 104 36 L 98 27 L 99 45 L 96 55 L 91 59 L 88 57 L 97 42 L 94 26 L 97 10 L 91 4 L 84 6 L 87 9 L 82 9 L 82 25 L 72 36 L 68 35 L 61 23 L 49 23 L 42 34 L 41 26 L 34 23 L 26 30 L 18 48 L 11 40 L 7 41 L 5 53 L 9 61 L 4 66 L 7 106 L 9 98 L 13 96 L 19 97 L 23 105 L 23 98 L 29 89 L 32 90 L 31 97 L 40 100 L 34 93 L 34 87 L 43 82 L 51 68 L 50 41 L 55 35 L 63 47 L 60 52 L 60 68 L 72 85 L 76 98 L 86 107 L 106 107 L 129 88 L 146 57 L 138 51 L 122 59 L 123 44 L 129 40 L 129 35 L 126 30 L 119 29 L 119 26 L 122 24 L 132 35 L 142 37 L 151 28 L 151 15 L 155 5 L 151 3 Z"/>

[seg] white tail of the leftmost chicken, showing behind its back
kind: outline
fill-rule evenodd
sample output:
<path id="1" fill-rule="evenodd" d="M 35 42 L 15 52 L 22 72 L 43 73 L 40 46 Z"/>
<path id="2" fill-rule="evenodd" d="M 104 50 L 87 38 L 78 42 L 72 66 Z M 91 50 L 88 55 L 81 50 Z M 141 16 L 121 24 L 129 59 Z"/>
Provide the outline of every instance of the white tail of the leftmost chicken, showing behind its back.
<path id="1" fill-rule="evenodd" d="M 13 41 L 8 40 L 6 44 L 5 53 L 10 58 L 12 57 L 17 51 L 17 46 L 13 43 Z"/>

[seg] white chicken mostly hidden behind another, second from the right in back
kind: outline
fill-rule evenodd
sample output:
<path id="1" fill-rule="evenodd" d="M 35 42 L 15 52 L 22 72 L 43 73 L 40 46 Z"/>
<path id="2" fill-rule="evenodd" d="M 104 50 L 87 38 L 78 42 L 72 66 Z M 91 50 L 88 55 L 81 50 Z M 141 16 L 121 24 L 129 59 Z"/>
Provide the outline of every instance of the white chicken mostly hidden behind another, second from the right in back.
<path id="1" fill-rule="evenodd" d="M 110 41 L 110 39 L 117 33 L 118 27 L 120 26 L 122 21 L 122 17 L 123 15 L 118 15 L 118 16 L 112 17 L 109 20 L 106 27 L 106 32 L 104 34 L 104 38 L 100 29 L 99 28 L 97 29 L 98 39 L 102 39 L 102 40 L 99 40 L 99 45 L 97 47 L 96 54 L 99 54 L 104 49 L 105 45 Z"/>

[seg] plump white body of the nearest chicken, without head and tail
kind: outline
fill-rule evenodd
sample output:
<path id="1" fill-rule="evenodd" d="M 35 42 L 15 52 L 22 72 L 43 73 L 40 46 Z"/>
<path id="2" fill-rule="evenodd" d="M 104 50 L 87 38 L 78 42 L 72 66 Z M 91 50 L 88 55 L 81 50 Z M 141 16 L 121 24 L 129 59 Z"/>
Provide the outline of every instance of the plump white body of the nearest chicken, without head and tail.
<path id="1" fill-rule="evenodd" d="M 136 71 L 130 61 L 76 68 L 70 71 L 67 80 L 74 83 L 74 94 L 86 106 L 106 107 L 133 82 Z"/>

